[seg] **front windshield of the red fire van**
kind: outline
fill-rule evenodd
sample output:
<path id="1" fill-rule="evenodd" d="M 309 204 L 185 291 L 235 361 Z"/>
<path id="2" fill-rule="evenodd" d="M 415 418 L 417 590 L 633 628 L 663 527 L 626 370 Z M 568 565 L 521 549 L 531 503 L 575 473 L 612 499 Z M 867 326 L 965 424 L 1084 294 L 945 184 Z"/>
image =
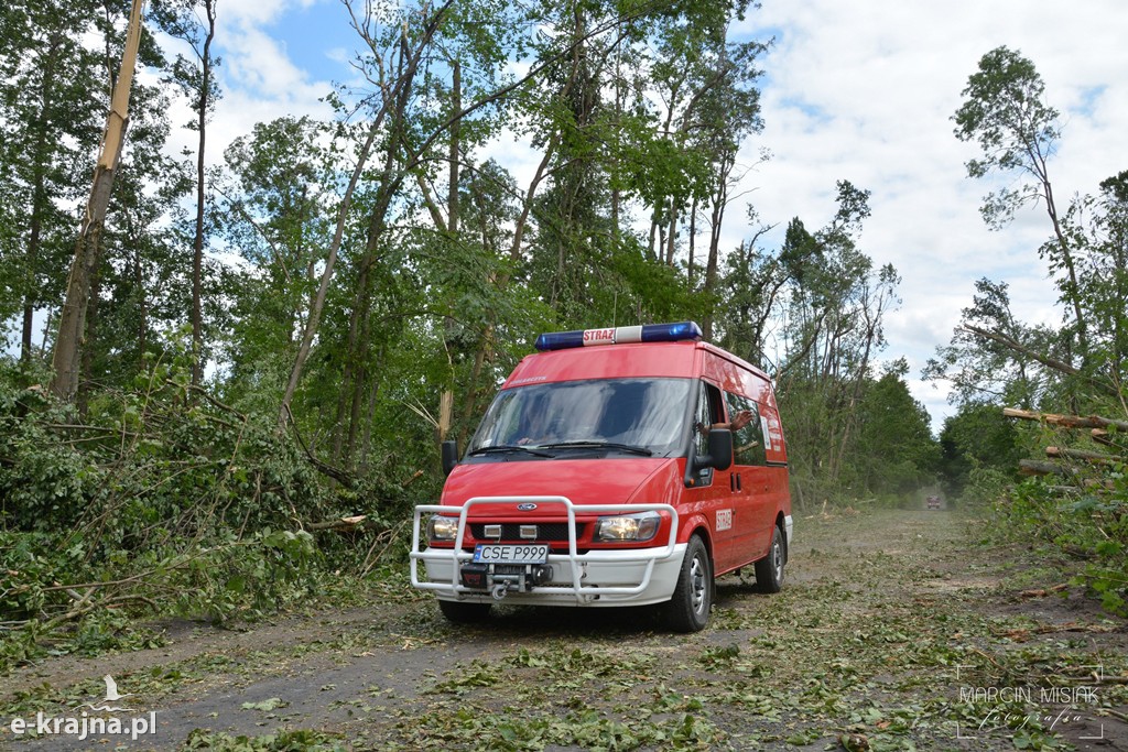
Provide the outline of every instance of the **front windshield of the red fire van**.
<path id="1" fill-rule="evenodd" d="M 509 448 L 564 458 L 607 449 L 670 457 L 685 443 L 691 387 L 689 379 L 599 379 L 505 389 L 482 418 L 468 453 Z"/>

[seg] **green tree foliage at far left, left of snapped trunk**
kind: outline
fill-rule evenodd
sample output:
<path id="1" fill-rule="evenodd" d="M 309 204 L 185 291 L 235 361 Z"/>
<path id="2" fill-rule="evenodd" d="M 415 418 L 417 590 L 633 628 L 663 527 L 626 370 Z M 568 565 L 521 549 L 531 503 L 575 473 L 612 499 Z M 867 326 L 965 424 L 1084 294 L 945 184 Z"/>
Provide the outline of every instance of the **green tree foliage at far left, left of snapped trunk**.
<path id="1" fill-rule="evenodd" d="M 120 8 L 105 8 L 107 20 Z M 73 205 L 102 138 L 115 39 L 88 0 L 6 3 L 0 14 L 0 315 L 55 300 L 73 254 Z M 92 44 L 88 44 L 92 39 Z M 106 48 L 102 48 L 100 45 Z M 30 356 L 30 315 L 23 317 Z"/>

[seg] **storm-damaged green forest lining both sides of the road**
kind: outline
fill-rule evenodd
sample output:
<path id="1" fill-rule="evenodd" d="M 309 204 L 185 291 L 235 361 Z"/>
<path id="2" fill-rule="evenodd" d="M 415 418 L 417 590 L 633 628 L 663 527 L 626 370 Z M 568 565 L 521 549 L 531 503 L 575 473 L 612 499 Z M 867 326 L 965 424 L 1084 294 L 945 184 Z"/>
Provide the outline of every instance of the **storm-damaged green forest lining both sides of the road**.
<path id="1" fill-rule="evenodd" d="M 537 334 L 616 322 L 696 320 L 775 380 L 797 514 L 944 484 L 1083 555 L 1125 608 L 1125 443 L 1017 484 L 1065 439 L 1002 414 L 1128 416 L 1128 172 L 1059 205 L 1060 116 L 1031 61 L 988 52 L 954 135 L 995 186 L 985 221 L 1045 209 L 1031 256 L 1060 325 L 980 281 L 926 369 L 959 407 L 937 439 L 883 335 L 902 301 L 861 242 L 875 186 L 836 178 L 837 211 L 804 218 L 737 189 L 772 41 L 730 28 L 755 3 L 344 0 L 364 86 L 221 160 L 218 5 L 153 0 L 133 26 L 140 3 L 0 10 L 0 666 L 116 645 L 135 616 L 254 618 L 403 576 L 439 442 L 465 445 Z M 174 153 L 177 130 L 194 149 Z M 486 157 L 506 141 L 536 150 L 531 177 Z"/>

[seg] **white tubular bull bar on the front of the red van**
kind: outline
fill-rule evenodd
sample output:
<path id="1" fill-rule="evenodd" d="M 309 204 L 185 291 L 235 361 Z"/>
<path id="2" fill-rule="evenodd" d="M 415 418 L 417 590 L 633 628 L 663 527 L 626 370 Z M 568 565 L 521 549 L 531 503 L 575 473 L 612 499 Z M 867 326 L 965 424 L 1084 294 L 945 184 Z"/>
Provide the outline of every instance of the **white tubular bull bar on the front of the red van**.
<path id="1" fill-rule="evenodd" d="M 573 504 L 566 496 L 475 496 L 467 499 L 461 506 L 442 506 L 438 504 L 421 504 L 415 507 L 412 520 L 412 550 L 411 569 L 412 586 L 420 590 L 434 590 L 448 596 L 462 598 L 464 594 L 482 595 L 477 589 L 466 587 L 459 583 L 459 565 L 474 558 L 473 551 L 462 550 L 462 539 L 466 533 L 466 522 L 472 507 L 479 504 L 559 504 L 567 512 L 567 554 L 548 555 L 549 564 L 567 564 L 572 575 L 571 592 L 575 595 L 576 602 L 584 603 L 600 595 L 629 596 L 638 595 L 646 591 L 654 572 L 654 564 L 659 559 L 668 559 L 673 556 L 678 542 L 678 511 L 669 504 Z M 632 549 L 607 549 L 590 550 L 587 554 L 579 554 L 575 539 L 575 511 L 580 508 L 584 514 L 635 514 L 638 512 L 666 512 L 670 515 L 670 537 L 664 546 L 653 548 Z M 458 533 L 455 537 L 455 547 L 420 549 L 420 528 L 425 514 L 458 514 Z M 550 551 L 550 549 L 549 549 Z M 628 554 L 637 556 L 627 557 Z M 430 582 L 418 577 L 420 559 L 440 561 L 448 559 L 451 567 L 451 582 Z M 584 565 L 607 563 L 607 564 L 638 564 L 645 563 L 645 569 L 637 585 L 631 586 L 593 586 L 584 585 L 580 581 L 584 576 Z M 552 589 L 555 593 L 566 591 L 559 584 Z"/>

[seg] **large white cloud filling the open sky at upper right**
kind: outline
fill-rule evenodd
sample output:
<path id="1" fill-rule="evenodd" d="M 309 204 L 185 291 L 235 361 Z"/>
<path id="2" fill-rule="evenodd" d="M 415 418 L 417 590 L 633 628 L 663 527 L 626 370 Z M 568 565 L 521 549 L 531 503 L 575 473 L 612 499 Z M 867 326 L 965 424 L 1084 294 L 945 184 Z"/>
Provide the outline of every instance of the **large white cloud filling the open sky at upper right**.
<path id="1" fill-rule="evenodd" d="M 764 0 L 749 14 L 742 34 L 776 36 L 761 61 L 766 127 L 748 145 L 749 153 L 760 145 L 774 153 L 752 177 L 760 188 L 756 207 L 764 221 L 781 223 L 782 237 L 792 216 L 809 229 L 830 218 L 836 180 L 872 192 L 860 246 L 904 278 L 904 307 L 887 325 L 887 356 L 907 355 L 917 368 L 946 344 L 981 276 L 1010 282 L 1020 317 L 1060 319 L 1037 254 L 1050 233 L 1045 211 L 1020 213 L 1003 232 L 982 224 L 978 206 L 992 186 L 966 177 L 963 163 L 977 151 L 955 139 L 951 116 L 986 52 L 1021 51 L 1063 113 L 1050 165 L 1058 200 L 1095 193 L 1101 179 L 1128 168 L 1128 94 L 1120 85 L 1128 78 L 1128 45 L 1122 25 L 1111 23 L 1122 12 L 1113 0 L 1068 7 L 1049 0 Z M 934 417 L 945 413 L 943 396 L 910 386 Z"/>

